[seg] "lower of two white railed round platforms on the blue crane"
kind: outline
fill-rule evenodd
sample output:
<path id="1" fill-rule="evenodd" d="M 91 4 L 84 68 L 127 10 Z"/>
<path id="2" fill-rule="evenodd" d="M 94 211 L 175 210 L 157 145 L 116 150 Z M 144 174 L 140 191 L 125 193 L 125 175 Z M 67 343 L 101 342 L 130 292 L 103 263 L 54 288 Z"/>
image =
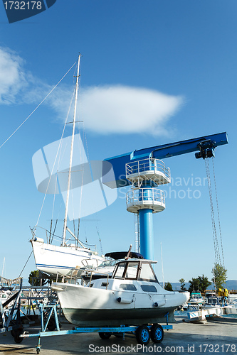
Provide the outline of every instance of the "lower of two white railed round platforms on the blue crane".
<path id="1" fill-rule="evenodd" d="M 149 205 L 164 205 L 165 206 L 165 198 L 164 191 L 152 188 L 143 188 L 137 190 L 131 190 L 127 192 L 126 195 L 127 207 L 135 206 L 139 204 L 149 204 Z"/>

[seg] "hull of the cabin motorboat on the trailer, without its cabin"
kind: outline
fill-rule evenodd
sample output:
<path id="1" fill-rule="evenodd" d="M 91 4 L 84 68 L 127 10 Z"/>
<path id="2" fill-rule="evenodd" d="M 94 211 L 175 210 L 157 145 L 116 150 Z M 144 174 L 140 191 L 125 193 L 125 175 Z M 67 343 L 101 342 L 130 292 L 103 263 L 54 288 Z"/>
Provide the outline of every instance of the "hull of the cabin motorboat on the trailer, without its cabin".
<path id="1" fill-rule="evenodd" d="M 97 282 L 102 285 L 106 281 Z M 172 315 L 174 309 L 189 298 L 189 293 L 168 292 L 158 283 L 155 284 L 157 293 L 143 292 L 138 282 L 134 283 L 136 292 L 120 290 L 120 284 L 124 285 L 127 280 L 110 279 L 109 283 L 111 290 L 65 283 L 54 283 L 52 289 L 58 292 L 66 319 L 83 327 L 161 322 L 167 312 Z"/>

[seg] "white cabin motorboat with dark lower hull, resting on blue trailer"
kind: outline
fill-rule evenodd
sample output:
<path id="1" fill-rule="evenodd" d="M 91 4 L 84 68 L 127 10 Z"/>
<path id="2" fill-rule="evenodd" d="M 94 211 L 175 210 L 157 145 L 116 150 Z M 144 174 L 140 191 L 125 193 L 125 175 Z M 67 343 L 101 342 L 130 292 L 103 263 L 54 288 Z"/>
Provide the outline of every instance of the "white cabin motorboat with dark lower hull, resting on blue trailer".
<path id="1" fill-rule="evenodd" d="M 145 259 L 118 261 L 112 277 L 87 286 L 53 283 L 66 319 L 83 327 L 140 325 L 165 321 L 169 313 L 189 299 L 189 292 L 169 292 L 157 280 Z"/>

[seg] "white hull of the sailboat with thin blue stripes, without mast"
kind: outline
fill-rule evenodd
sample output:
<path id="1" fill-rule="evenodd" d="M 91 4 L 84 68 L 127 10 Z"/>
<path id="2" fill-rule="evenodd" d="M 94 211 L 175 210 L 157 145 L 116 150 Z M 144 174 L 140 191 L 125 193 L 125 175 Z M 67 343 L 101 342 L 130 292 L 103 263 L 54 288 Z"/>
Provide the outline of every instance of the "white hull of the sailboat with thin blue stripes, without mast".
<path id="1" fill-rule="evenodd" d="M 81 247 L 55 246 L 43 241 L 31 241 L 31 244 L 36 268 L 48 275 L 70 275 L 75 268 L 97 267 L 105 260 L 94 251 Z"/>

